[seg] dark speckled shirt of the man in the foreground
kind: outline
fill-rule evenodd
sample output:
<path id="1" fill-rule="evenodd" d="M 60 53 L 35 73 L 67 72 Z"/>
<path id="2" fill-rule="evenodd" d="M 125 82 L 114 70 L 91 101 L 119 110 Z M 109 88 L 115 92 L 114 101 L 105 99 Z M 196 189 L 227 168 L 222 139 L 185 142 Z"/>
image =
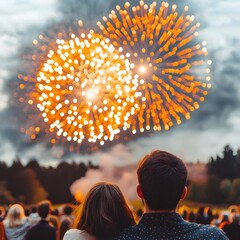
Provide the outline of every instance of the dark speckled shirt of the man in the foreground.
<path id="1" fill-rule="evenodd" d="M 189 223 L 174 212 L 145 213 L 140 222 L 114 240 L 227 240 L 225 233 L 209 225 Z"/>

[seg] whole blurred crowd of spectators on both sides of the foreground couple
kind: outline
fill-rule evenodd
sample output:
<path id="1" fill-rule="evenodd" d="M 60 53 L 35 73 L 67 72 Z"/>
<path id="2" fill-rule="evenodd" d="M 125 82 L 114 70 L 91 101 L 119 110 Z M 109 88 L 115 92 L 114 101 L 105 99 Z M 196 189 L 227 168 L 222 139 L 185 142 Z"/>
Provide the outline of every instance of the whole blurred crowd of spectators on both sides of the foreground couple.
<path id="1" fill-rule="evenodd" d="M 74 226 L 74 208 L 71 204 L 53 207 L 47 200 L 30 207 L 20 204 L 0 207 L 0 240 L 63 240 L 65 232 Z M 134 212 L 141 218 L 142 209 Z M 220 211 L 204 206 L 193 210 L 183 205 L 178 212 L 188 222 L 217 226 L 230 240 L 240 239 L 238 206 Z"/>

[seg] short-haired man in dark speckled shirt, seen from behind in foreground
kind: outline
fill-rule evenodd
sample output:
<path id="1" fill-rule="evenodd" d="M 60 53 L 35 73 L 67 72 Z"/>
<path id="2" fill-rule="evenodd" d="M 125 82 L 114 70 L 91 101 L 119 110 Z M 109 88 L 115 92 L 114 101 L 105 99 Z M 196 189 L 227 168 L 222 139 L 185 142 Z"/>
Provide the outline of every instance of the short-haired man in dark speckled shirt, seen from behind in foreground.
<path id="1" fill-rule="evenodd" d="M 137 225 L 123 230 L 114 240 L 228 239 L 217 227 L 187 222 L 176 212 L 179 201 L 187 194 L 187 168 L 180 158 L 153 151 L 140 161 L 137 175 L 137 194 L 145 213 Z"/>

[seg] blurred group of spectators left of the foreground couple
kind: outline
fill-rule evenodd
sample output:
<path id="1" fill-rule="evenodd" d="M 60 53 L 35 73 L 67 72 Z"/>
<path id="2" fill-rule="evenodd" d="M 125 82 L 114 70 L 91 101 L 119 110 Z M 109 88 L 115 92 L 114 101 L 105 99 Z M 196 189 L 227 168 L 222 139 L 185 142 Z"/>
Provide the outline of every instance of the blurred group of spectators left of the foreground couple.
<path id="1" fill-rule="evenodd" d="M 0 207 L 0 240 L 62 240 L 73 226 L 73 206 L 53 207 L 48 200 L 24 207 Z"/>

